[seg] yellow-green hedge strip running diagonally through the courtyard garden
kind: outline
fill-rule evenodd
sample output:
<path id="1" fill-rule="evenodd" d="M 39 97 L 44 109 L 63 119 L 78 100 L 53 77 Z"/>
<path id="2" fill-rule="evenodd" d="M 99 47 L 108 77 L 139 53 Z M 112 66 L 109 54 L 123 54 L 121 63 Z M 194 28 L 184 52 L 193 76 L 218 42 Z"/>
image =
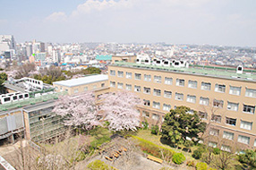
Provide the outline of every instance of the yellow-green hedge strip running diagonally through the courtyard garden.
<path id="1" fill-rule="evenodd" d="M 132 136 L 132 138 L 139 141 L 138 146 L 141 148 L 143 152 L 146 152 L 149 155 L 152 155 L 154 157 L 159 157 L 159 158 L 163 158 L 162 157 L 162 154 L 163 154 L 167 162 L 169 162 L 173 157 L 173 155 L 175 154 L 174 150 L 166 149 L 165 147 L 158 146 L 157 144 L 149 140 L 144 140 L 137 136 Z"/>

